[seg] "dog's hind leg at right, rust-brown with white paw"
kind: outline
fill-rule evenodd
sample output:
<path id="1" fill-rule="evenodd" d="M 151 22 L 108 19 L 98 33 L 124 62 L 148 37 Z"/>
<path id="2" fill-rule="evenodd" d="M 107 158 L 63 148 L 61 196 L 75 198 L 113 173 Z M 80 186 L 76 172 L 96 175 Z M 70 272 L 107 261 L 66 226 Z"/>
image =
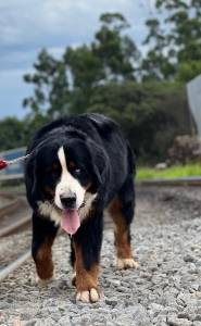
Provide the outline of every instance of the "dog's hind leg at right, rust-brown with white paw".
<path id="1" fill-rule="evenodd" d="M 134 177 L 130 175 L 121 191 L 109 205 L 115 229 L 115 248 L 117 255 L 117 268 L 138 267 L 138 263 L 133 258 L 130 247 L 130 224 L 134 218 L 135 211 L 135 187 Z"/>

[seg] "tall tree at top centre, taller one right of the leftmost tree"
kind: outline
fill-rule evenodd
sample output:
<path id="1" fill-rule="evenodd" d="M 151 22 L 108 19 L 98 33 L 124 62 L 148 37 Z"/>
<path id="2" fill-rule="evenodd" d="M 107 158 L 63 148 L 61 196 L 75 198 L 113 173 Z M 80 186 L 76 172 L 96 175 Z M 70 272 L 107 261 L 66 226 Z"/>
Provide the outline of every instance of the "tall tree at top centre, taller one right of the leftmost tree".
<path id="1" fill-rule="evenodd" d="M 123 34 L 129 24 L 118 13 L 102 14 L 100 22 L 92 51 L 103 64 L 105 80 L 134 80 L 140 53 L 135 42 Z"/>

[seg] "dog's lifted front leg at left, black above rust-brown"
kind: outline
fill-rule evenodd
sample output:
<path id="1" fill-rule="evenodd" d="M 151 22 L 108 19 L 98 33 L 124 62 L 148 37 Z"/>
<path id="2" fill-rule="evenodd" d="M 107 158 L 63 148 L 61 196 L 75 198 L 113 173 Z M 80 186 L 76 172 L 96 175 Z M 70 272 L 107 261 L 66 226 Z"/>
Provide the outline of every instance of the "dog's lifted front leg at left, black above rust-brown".
<path id="1" fill-rule="evenodd" d="M 45 285 L 53 276 L 53 262 L 51 247 L 58 227 L 52 221 L 33 214 L 33 244 L 32 254 L 36 264 L 39 284 Z"/>

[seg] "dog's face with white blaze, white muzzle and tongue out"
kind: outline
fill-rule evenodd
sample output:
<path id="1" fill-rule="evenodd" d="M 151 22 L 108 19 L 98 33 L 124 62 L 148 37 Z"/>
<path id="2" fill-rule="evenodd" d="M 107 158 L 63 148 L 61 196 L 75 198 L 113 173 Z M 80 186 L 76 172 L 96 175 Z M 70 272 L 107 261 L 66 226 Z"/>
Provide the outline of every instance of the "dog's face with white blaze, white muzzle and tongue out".
<path id="1" fill-rule="evenodd" d="M 77 231 L 83 220 L 89 216 L 97 197 L 85 148 L 60 147 L 51 156 L 42 159 L 43 171 L 40 187 L 43 200 L 38 201 L 39 212 L 68 234 Z M 74 161 L 75 160 L 75 161 Z M 78 165 L 77 165 L 78 164 Z M 92 191 L 92 192 L 91 192 Z"/>

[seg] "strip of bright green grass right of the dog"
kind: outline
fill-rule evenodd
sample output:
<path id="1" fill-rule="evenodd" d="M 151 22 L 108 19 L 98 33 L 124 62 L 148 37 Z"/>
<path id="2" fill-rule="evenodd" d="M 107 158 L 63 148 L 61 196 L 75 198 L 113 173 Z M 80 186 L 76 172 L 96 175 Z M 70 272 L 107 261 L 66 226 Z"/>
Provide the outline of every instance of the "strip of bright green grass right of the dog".
<path id="1" fill-rule="evenodd" d="M 201 164 L 188 164 L 167 167 L 159 171 L 153 167 L 139 167 L 137 170 L 137 180 L 143 179 L 171 179 L 190 176 L 201 176 Z"/>

